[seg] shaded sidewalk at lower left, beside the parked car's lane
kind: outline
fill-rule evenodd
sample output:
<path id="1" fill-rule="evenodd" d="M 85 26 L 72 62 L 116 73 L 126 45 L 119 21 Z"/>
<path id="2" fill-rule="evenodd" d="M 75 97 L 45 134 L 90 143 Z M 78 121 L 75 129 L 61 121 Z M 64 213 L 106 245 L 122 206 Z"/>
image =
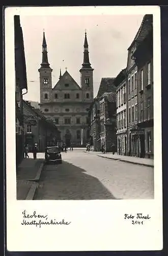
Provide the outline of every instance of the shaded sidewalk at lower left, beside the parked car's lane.
<path id="1" fill-rule="evenodd" d="M 17 168 L 17 200 L 33 200 L 44 165 L 44 159 L 23 159 Z"/>

